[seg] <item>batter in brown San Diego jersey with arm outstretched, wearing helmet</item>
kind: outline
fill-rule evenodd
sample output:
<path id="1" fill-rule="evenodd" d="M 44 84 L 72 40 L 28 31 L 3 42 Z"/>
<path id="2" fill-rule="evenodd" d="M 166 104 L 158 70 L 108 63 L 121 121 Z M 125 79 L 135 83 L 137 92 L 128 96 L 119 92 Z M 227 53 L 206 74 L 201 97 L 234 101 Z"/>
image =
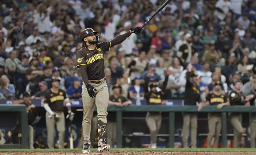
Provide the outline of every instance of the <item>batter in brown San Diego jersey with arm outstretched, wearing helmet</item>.
<path id="1" fill-rule="evenodd" d="M 99 42 L 98 31 L 94 31 L 92 28 L 86 28 L 80 33 L 83 45 L 76 55 L 76 67 L 80 68 L 83 79 L 83 153 L 90 152 L 91 118 L 95 104 L 98 113 L 98 151 L 110 149 L 106 143 L 109 91 L 105 80 L 104 54 L 112 46 L 122 43 L 133 33 L 138 34 L 140 31 L 142 28 L 136 27 L 107 42 Z"/>

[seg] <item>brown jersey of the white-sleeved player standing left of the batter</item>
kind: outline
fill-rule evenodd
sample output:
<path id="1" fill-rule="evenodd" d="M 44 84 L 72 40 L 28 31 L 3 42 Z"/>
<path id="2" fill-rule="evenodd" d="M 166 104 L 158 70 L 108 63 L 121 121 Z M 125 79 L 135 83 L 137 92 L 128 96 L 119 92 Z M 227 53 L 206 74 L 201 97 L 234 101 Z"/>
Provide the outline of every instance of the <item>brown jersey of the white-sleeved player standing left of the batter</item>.
<path id="1" fill-rule="evenodd" d="M 45 93 L 44 104 L 48 104 L 53 112 L 62 112 L 64 110 L 64 100 L 66 98 L 65 91 L 59 89 L 58 92 L 55 92 L 51 88 Z"/>

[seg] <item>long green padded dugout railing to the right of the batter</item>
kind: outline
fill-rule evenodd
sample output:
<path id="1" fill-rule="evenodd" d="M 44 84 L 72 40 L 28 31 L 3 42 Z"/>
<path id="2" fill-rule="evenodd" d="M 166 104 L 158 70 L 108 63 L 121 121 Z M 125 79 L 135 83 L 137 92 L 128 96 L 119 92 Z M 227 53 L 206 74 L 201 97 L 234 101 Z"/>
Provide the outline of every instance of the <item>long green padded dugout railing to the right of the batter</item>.
<path id="1" fill-rule="evenodd" d="M 96 107 L 95 110 L 97 111 Z M 108 112 L 116 112 L 116 144 L 118 148 L 122 148 L 122 113 L 123 112 L 165 112 L 169 113 L 169 142 L 168 147 L 174 147 L 175 142 L 175 113 L 176 112 L 198 112 L 197 106 L 128 106 L 117 107 L 109 106 Z M 252 113 L 256 112 L 254 106 L 224 106 L 221 110 L 216 106 L 204 106 L 200 113 L 219 112 L 221 113 L 221 144 L 222 147 L 227 147 L 227 113 L 242 112 Z"/>

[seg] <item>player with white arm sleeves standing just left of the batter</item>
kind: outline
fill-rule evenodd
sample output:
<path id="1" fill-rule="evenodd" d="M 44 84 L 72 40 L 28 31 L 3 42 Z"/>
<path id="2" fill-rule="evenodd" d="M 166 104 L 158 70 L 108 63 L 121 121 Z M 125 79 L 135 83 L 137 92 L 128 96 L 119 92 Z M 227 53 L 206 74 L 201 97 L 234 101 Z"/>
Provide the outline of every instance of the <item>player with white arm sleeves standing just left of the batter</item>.
<path id="1" fill-rule="evenodd" d="M 68 115 L 70 120 L 73 119 L 74 113 L 71 112 L 71 104 L 66 92 L 59 89 L 59 79 L 53 78 L 51 80 L 52 88 L 45 93 L 43 107 L 46 110 L 46 127 L 47 127 L 47 145 L 49 149 L 54 148 L 54 133 L 55 124 L 59 132 L 59 148 L 64 148 L 64 134 L 65 134 L 65 117 L 64 117 L 64 104 L 68 108 Z"/>

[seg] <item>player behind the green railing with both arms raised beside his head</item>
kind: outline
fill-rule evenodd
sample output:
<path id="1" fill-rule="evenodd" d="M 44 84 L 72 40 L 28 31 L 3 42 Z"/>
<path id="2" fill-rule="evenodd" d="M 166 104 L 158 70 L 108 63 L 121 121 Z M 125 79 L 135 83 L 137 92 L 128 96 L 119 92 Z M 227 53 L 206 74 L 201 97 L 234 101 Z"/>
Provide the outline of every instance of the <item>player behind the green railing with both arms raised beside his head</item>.
<path id="1" fill-rule="evenodd" d="M 148 91 L 148 83 L 149 78 L 154 73 L 153 70 L 149 70 L 147 73 L 147 77 L 145 80 L 145 99 L 147 100 L 147 104 L 149 105 L 162 105 L 162 99 L 161 97 L 164 95 L 168 77 L 169 77 L 169 70 L 165 71 L 165 81 L 163 82 L 163 87 L 161 91 L 157 92 L 157 85 L 155 83 L 152 83 L 150 85 L 150 91 Z M 160 112 L 148 112 L 146 115 L 146 122 L 147 126 L 150 131 L 150 139 L 151 139 L 151 148 L 155 149 L 157 148 L 157 134 L 160 130 L 161 123 L 162 123 L 162 115 Z"/>

